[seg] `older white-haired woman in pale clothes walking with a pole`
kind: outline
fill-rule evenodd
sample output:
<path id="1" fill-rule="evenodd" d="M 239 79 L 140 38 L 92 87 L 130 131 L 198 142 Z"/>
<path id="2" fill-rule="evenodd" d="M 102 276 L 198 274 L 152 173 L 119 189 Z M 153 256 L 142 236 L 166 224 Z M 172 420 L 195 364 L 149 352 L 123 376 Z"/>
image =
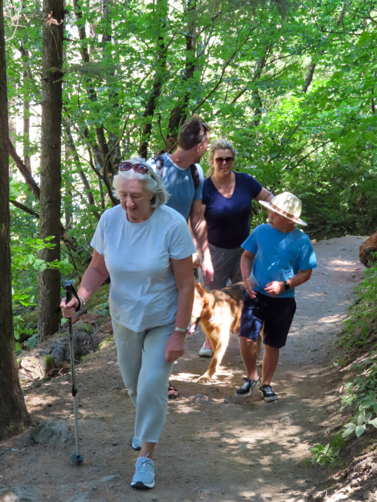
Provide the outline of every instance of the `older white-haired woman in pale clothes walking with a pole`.
<path id="1" fill-rule="evenodd" d="M 120 205 L 102 215 L 92 260 L 77 292 L 85 303 L 110 276 L 110 313 L 125 386 L 136 408 L 132 446 L 140 449 L 131 486 L 154 486 L 153 450 L 166 419 L 167 384 L 183 354 L 194 300 L 195 246 L 184 218 L 167 207 L 161 178 L 142 159 L 114 177 Z M 71 317 L 73 298 L 61 308 Z"/>

